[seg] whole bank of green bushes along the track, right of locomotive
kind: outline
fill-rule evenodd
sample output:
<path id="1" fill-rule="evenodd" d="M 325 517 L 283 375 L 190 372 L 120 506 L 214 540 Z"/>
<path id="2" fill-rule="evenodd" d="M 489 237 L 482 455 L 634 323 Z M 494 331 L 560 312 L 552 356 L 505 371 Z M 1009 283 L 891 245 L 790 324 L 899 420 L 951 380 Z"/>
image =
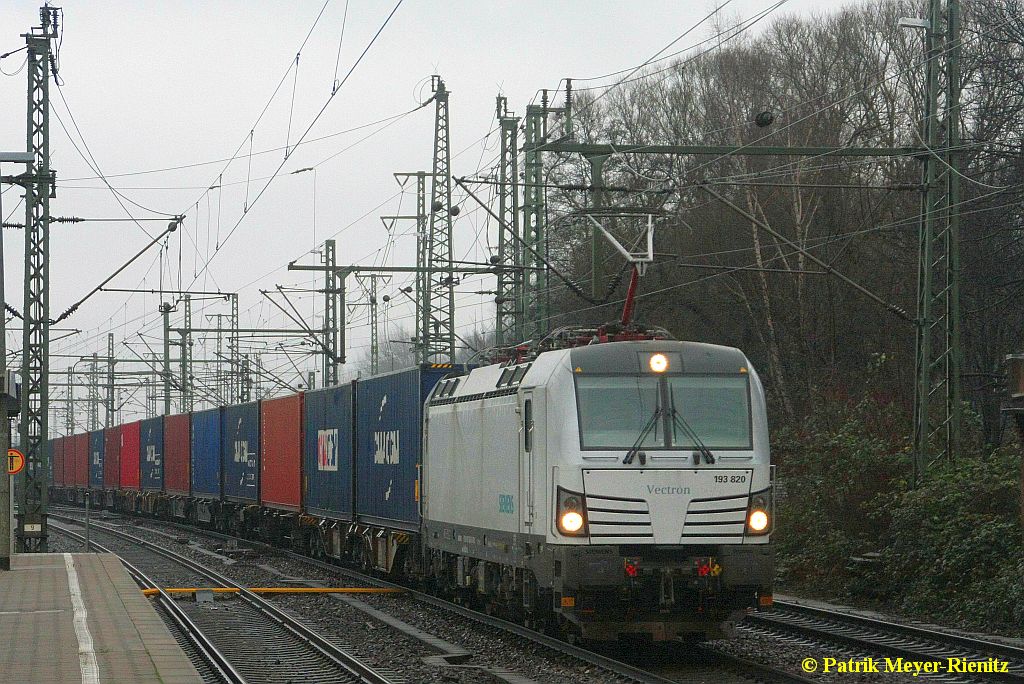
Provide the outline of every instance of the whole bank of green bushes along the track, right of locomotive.
<path id="1" fill-rule="evenodd" d="M 1019 451 L 964 450 L 911 488 L 906 425 L 864 399 L 823 403 L 800 429 L 777 431 L 780 589 L 1020 633 Z M 877 560 L 853 561 L 864 554 Z"/>

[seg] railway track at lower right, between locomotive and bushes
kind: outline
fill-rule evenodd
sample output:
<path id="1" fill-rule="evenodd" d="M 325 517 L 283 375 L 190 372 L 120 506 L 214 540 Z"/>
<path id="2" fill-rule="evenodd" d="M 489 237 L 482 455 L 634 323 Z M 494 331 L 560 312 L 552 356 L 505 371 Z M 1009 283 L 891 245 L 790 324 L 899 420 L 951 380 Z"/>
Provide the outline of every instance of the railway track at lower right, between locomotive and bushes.
<path id="1" fill-rule="evenodd" d="M 929 681 L 961 684 L 977 681 L 1024 682 L 1024 649 L 947 632 L 940 632 L 849 612 L 776 601 L 770 613 L 749 615 L 744 629 L 801 640 L 801 643 L 842 647 L 854 656 L 903 658 L 906 661 L 948 662 L 949 658 L 1008 662 L 1007 673 L 951 673 Z"/>

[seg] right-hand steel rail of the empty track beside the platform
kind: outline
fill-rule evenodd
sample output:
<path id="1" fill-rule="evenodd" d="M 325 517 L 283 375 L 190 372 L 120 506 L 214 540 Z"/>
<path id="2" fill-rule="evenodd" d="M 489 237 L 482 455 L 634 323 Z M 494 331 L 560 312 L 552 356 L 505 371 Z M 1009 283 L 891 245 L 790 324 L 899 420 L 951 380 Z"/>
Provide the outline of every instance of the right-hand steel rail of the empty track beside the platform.
<path id="1" fill-rule="evenodd" d="M 76 524 L 81 523 L 80 520 L 76 520 L 75 518 L 69 518 L 67 516 L 55 515 L 52 513 L 50 517 L 68 520 Z M 215 572 L 209 567 L 194 561 L 191 558 L 182 556 L 181 554 L 175 553 L 170 549 L 159 546 L 139 537 L 135 537 L 134 535 L 129 535 L 128 532 L 115 529 L 106 525 L 96 524 L 95 522 L 91 523 L 91 527 L 102 531 L 103 533 L 121 538 L 126 542 L 148 549 L 154 553 L 161 555 L 193 572 L 196 572 L 197 574 L 207 578 L 216 585 L 238 590 L 238 596 L 240 596 L 249 605 L 265 614 L 274 623 L 281 625 L 285 630 L 291 632 L 296 638 L 307 643 L 311 648 L 334 662 L 338 668 L 357 678 L 359 682 L 362 682 L 364 684 L 393 684 L 393 680 L 377 672 L 343 648 L 331 643 L 317 632 L 314 632 L 312 629 L 306 627 L 301 621 L 276 607 L 270 601 L 250 592 L 245 587 L 242 587 L 229 578 Z"/>

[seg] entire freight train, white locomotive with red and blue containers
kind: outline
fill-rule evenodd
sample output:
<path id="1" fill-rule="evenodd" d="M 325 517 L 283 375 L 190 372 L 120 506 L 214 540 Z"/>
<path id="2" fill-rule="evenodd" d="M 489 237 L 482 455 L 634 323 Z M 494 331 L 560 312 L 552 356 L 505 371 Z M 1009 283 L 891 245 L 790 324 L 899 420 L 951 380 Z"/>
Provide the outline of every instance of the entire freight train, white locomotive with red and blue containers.
<path id="1" fill-rule="evenodd" d="M 745 356 L 595 344 L 57 438 L 53 498 L 357 564 L 568 638 L 715 638 L 771 604 Z"/>

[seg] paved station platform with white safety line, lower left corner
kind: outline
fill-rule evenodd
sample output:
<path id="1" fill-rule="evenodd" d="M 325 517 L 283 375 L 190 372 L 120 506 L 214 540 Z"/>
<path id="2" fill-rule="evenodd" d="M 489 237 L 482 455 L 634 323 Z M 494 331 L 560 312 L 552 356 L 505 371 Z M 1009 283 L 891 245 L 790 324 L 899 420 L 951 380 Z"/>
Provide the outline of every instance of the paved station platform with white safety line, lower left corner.
<path id="1" fill-rule="evenodd" d="M 110 554 L 15 554 L 0 572 L 0 680 L 163 682 L 202 678 Z"/>

